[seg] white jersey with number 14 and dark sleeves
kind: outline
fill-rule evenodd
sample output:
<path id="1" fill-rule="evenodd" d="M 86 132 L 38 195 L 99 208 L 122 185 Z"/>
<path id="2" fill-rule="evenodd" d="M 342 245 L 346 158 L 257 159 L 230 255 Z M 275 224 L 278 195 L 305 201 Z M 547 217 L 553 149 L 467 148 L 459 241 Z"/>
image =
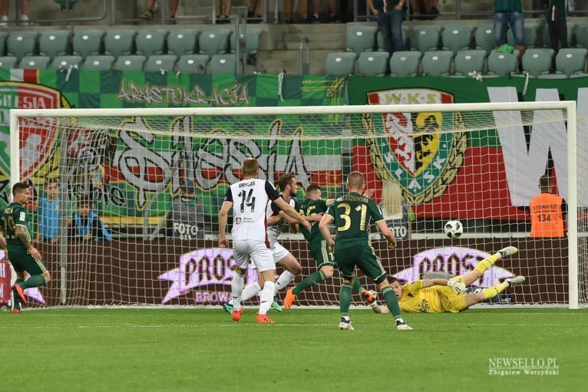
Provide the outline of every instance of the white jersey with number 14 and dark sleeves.
<path id="1" fill-rule="evenodd" d="M 227 189 L 232 205 L 232 241 L 254 240 L 268 244 L 266 208 L 279 192 L 267 180 L 242 180 Z"/>

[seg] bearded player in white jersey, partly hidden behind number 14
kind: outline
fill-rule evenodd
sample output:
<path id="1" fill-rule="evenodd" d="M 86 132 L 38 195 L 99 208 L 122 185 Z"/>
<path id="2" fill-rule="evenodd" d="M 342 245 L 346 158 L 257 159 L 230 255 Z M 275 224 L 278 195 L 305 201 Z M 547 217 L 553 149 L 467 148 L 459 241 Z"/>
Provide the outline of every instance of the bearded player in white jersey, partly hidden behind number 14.
<path id="1" fill-rule="evenodd" d="M 298 184 L 296 182 L 295 176 L 293 174 L 284 174 L 281 178 L 279 178 L 277 186 L 281 192 L 280 196 L 286 201 L 286 203 L 296 208 L 296 202 L 294 198 L 298 192 Z M 284 246 L 282 246 L 282 244 L 280 244 L 278 241 L 279 234 L 282 234 L 284 221 L 291 223 L 292 225 L 296 225 L 297 221 L 279 209 L 275 202 L 268 204 L 266 209 L 266 217 L 268 220 L 268 239 L 270 240 L 273 259 L 276 265 L 280 265 L 285 269 L 275 282 L 275 297 L 279 290 L 282 290 L 282 288 L 288 286 L 288 283 L 293 281 L 298 275 L 300 275 L 300 273 L 302 273 L 302 266 L 300 263 L 298 263 L 294 255 L 288 252 L 288 250 L 286 250 L 286 248 L 284 248 Z M 303 218 L 306 219 L 306 221 L 318 221 L 320 219 L 315 216 L 303 216 Z M 258 274 L 257 276 L 259 277 L 259 281 L 251 283 L 249 286 L 244 288 L 241 301 L 247 301 L 261 291 L 261 286 L 264 284 L 264 278 L 261 274 Z M 232 300 L 226 302 L 226 304 L 223 305 L 223 308 L 230 313 L 232 313 L 232 307 Z M 271 308 L 279 312 L 283 310 L 282 306 L 279 306 L 275 299 L 271 304 Z"/>

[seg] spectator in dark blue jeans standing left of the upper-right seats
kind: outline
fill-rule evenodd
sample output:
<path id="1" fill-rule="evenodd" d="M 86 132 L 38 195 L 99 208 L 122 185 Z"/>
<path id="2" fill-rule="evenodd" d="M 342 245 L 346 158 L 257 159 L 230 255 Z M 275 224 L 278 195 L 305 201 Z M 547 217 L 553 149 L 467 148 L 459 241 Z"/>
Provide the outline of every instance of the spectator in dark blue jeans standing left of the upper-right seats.
<path id="1" fill-rule="evenodd" d="M 392 55 L 404 50 L 402 22 L 406 12 L 405 0 L 367 0 L 367 6 L 376 15 L 387 52 Z"/>

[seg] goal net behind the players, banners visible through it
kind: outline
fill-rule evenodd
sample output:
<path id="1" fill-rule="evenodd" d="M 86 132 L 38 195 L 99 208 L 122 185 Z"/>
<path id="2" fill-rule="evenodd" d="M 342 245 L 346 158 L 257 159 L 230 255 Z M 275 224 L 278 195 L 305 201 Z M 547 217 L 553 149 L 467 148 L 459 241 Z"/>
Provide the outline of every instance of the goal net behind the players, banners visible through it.
<path id="1" fill-rule="evenodd" d="M 227 301 L 234 263 L 217 246 L 218 212 L 247 157 L 272 183 L 295 174 L 299 203 L 308 185 L 337 198 L 347 174 L 365 174 L 398 239 L 391 250 L 371 227 L 372 245 L 401 282 L 461 274 L 513 245 L 471 290 L 524 275 L 493 304 L 586 304 L 588 120 L 574 105 L 11 111 L 10 180 L 33 187 L 33 236 L 53 277 L 28 290 L 29 306 Z M 541 178 L 565 200 L 561 236 L 530 234 Z M 443 234 L 448 220 L 463 224 L 459 239 Z M 284 227 L 281 243 L 303 267 L 291 286 L 315 272 L 302 234 Z M 249 269 L 246 284 L 256 279 Z M 295 304 L 337 305 L 339 287 L 336 272 Z"/>

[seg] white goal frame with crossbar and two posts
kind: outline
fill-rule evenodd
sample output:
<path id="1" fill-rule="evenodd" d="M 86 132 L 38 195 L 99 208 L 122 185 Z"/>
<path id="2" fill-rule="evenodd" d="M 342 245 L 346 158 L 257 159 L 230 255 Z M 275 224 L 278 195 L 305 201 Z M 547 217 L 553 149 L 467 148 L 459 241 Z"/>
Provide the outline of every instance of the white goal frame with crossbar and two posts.
<path id="1" fill-rule="evenodd" d="M 19 118 L 45 117 L 98 117 L 114 116 L 231 116 L 231 115 L 344 115 L 362 113 L 403 113 L 403 112 L 473 112 L 473 111 L 538 111 L 565 110 L 567 112 L 567 163 L 569 212 L 574 216 L 578 211 L 578 189 L 576 169 L 576 101 L 545 102 L 488 102 L 472 104 L 398 104 L 398 105 L 351 105 L 351 106 L 284 106 L 284 107 L 232 107 L 232 108 L 129 108 L 129 109 L 11 109 L 10 110 L 10 183 L 20 180 Z M 12 197 L 12 195 L 10 195 Z M 569 214 L 571 215 L 571 214 Z M 569 304 L 577 309 L 578 304 L 578 221 L 568 219 L 569 241 Z"/>

